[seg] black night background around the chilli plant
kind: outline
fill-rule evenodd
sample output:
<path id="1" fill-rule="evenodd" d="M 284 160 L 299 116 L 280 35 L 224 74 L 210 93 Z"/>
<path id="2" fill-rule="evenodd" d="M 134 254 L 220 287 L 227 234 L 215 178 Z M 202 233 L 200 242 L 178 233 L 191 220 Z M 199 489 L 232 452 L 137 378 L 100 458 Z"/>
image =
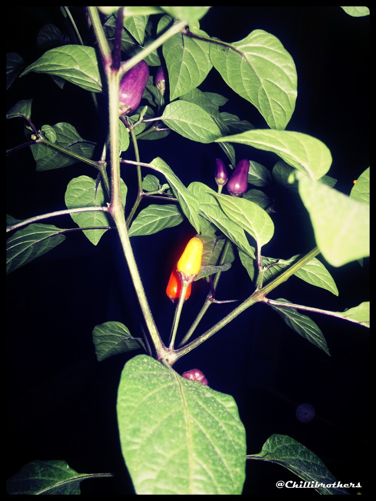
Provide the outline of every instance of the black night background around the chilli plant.
<path id="1" fill-rule="evenodd" d="M 7 52 L 19 53 L 27 64 L 36 61 L 41 55 L 37 33 L 47 23 L 64 31 L 57 7 L 18 8 L 8 32 Z M 213 7 L 201 27 L 225 42 L 239 41 L 255 29 L 279 38 L 298 74 L 295 112 L 286 130 L 310 134 L 328 146 L 333 157 L 328 175 L 338 179 L 336 188 L 348 194 L 352 180 L 369 165 L 369 17 L 352 18 L 339 7 Z M 258 111 L 235 96 L 216 70 L 200 89 L 230 98 L 232 102 L 221 111 L 235 113 L 256 128 L 267 127 Z M 18 79 L 7 94 L 7 110 L 17 101 L 33 98 L 32 119 L 38 128 L 69 122 L 85 139 L 103 141 L 105 119 L 98 119 L 90 94 L 72 84 L 61 90 L 48 76 L 31 73 Z M 7 127 L 7 148 L 24 141 L 21 119 L 9 120 Z M 224 158 L 218 145 L 192 143 L 171 133 L 164 140 L 140 141 L 139 148 L 141 160 L 161 156 L 185 185 L 200 180 L 216 188 L 214 161 L 218 156 Z M 241 145 L 235 149 L 237 159 L 246 156 L 270 169 L 278 160 Z M 129 189 L 135 171 L 124 172 L 129 210 L 135 197 Z M 68 182 L 83 174 L 96 176 L 83 164 L 36 172 L 28 149 L 13 154 L 8 158 L 7 213 L 26 219 L 65 208 Z M 275 236 L 263 250 L 268 256 L 287 259 L 308 252 L 315 243 L 304 207 L 298 198 L 291 201 L 284 195 L 276 193 Z M 48 222 L 62 228 L 75 226 L 68 216 Z M 192 226 L 184 222 L 131 239 L 150 308 L 165 342 L 174 312 L 164 293 L 171 263 L 194 234 Z M 333 311 L 368 300 L 368 259 L 363 267 L 355 262 L 341 269 L 319 259 L 337 284 L 338 298 L 295 277 L 270 298 Z M 242 266 L 234 263 L 232 271 L 221 278 L 218 298 L 243 300 L 249 296 L 252 284 L 243 279 L 244 274 Z M 106 232 L 94 246 L 81 232 L 71 233 L 52 252 L 11 273 L 6 287 L 6 476 L 35 459 L 64 459 L 78 472 L 115 474 L 85 480 L 83 494 L 134 493 L 120 452 L 115 406 L 121 370 L 137 352 L 99 363 L 92 343 L 93 328 L 107 321 L 122 322 L 132 335 L 141 335 L 141 317 L 135 313 L 139 308 L 116 234 Z M 190 325 L 207 292 L 204 281 L 195 284 L 195 298 L 183 309 L 183 326 Z M 212 305 L 197 334 L 232 309 L 231 304 Z M 277 313 L 256 305 L 174 368 L 182 373 L 197 367 L 212 388 L 234 396 L 247 430 L 248 453 L 259 452 L 273 433 L 289 435 L 315 452 L 339 481 L 360 482 L 360 492 L 367 494 L 369 331 L 331 317 L 309 316 L 323 332 L 330 357 L 290 330 Z M 305 402 L 315 408 L 316 415 L 302 423 L 295 410 Z M 301 496 L 300 489 L 276 488 L 277 480 L 288 479 L 299 481 L 282 466 L 249 461 L 243 494 Z M 304 489 L 303 495 L 318 494 Z"/>

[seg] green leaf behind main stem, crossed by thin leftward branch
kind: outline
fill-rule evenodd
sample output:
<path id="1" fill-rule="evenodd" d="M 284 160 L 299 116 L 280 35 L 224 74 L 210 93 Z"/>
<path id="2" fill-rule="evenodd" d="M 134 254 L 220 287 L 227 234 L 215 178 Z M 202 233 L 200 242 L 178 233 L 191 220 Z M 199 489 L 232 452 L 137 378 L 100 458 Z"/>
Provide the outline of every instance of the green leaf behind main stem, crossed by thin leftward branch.
<path id="1" fill-rule="evenodd" d="M 120 179 L 121 199 L 125 204 L 127 187 Z M 65 204 L 68 209 L 79 207 L 102 207 L 105 205 L 105 197 L 101 184 L 96 187 L 95 179 L 88 176 L 79 176 L 72 179 L 65 192 Z M 111 226 L 110 217 L 102 211 L 76 212 L 71 214 L 74 222 L 80 227 Z M 85 236 L 96 245 L 107 229 L 84 229 Z"/>

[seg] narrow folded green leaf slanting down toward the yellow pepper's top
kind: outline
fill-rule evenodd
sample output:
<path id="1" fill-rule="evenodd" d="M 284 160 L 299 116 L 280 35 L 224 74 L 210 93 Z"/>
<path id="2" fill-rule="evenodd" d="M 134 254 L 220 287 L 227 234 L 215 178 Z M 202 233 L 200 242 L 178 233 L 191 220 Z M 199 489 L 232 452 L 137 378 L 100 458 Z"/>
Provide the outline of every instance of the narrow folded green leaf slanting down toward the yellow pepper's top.
<path id="1" fill-rule="evenodd" d="M 161 172 L 165 176 L 173 194 L 176 196 L 180 204 L 181 210 L 199 233 L 199 202 L 196 200 L 195 196 L 187 190 L 180 179 L 175 176 L 170 167 L 161 158 L 154 158 L 154 160 L 150 162 L 150 167 L 158 172 Z"/>

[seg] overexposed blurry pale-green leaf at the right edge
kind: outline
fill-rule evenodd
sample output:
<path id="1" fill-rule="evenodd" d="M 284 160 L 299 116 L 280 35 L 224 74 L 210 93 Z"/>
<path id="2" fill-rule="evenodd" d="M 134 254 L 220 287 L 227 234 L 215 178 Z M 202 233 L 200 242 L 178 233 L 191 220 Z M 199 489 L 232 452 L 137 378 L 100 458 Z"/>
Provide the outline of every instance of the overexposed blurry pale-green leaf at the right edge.
<path id="1" fill-rule="evenodd" d="M 369 256 L 369 204 L 299 175 L 299 194 L 316 243 L 332 266 Z"/>

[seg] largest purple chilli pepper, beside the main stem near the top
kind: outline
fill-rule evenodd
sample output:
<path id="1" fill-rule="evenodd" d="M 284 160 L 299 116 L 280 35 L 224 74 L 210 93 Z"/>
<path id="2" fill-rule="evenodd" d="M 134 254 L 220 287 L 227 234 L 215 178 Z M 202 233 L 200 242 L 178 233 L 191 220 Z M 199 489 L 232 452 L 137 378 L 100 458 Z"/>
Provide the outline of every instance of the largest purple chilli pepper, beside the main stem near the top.
<path id="1" fill-rule="evenodd" d="M 127 115 L 139 106 L 149 78 L 149 67 L 140 61 L 125 73 L 119 86 L 119 111 Z"/>

